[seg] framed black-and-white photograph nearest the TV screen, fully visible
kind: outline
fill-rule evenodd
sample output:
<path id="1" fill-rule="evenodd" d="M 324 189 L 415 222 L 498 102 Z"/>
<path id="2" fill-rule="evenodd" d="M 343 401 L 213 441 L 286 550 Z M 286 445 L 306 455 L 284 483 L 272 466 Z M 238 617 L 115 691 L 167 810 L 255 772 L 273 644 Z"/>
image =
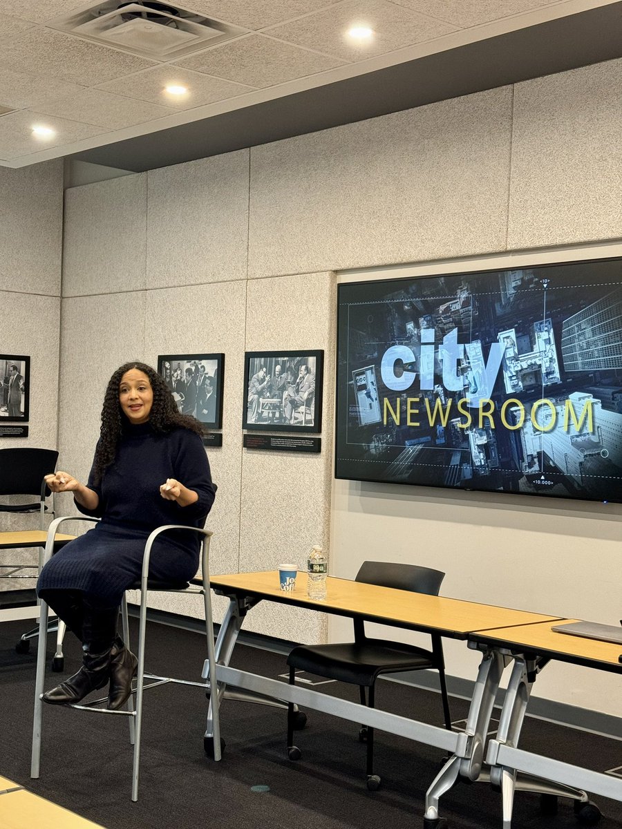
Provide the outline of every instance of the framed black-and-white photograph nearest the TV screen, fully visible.
<path id="1" fill-rule="evenodd" d="M 246 351 L 244 429 L 320 432 L 323 351 Z"/>

